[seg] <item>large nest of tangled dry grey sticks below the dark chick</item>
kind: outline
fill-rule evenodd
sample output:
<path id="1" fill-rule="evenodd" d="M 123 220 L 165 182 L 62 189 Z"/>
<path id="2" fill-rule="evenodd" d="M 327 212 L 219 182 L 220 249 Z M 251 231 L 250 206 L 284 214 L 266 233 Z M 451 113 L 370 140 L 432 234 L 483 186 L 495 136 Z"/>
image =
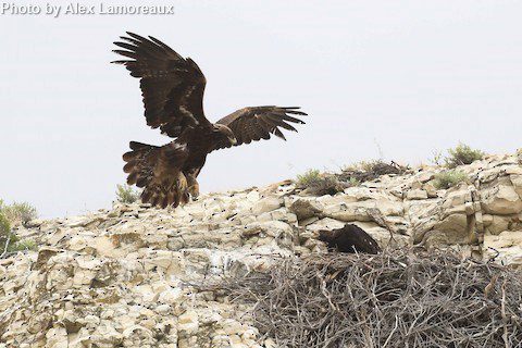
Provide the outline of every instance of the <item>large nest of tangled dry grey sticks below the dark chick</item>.
<path id="1" fill-rule="evenodd" d="M 315 254 L 227 281 L 287 347 L 520 347 L 522 277 L 451 252 Z"/>

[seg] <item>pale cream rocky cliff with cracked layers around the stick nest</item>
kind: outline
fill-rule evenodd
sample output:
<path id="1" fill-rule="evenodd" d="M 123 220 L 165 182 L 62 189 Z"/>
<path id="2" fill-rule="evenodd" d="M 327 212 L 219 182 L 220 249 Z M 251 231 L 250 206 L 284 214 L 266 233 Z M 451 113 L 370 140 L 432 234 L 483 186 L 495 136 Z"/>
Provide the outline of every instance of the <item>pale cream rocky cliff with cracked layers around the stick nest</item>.
<path id="1" fill-rule="evenodd" d="M 319 231 L 350 222 L 381 247 L 451 247 L 522 264 L 522 158 L 459 166 L 468 181 L 437 190 L 442 171 L 383 175 L 334 196 L 291 182 L 209 194 L 176 210 L 110 211 L 20 227 L 38 245 L 0 260 L 0 347 L 275 347 L 251 308 L 198 285 L 326 252 Z"/>

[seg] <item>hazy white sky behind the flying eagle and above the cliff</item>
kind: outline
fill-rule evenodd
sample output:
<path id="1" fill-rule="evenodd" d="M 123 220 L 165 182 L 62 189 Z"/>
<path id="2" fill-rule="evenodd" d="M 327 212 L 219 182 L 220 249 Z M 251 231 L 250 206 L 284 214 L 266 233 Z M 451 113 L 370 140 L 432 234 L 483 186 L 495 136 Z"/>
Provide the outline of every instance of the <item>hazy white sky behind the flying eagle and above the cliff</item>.
<path id="1" fill-rule="evenodd" d="M 116 3 L 167 2 L 103 1 Z M 212 153 L 202 191 L 334 170 L 378 148 L 418 163 L 459 140 L 522 146 L 522 1 L 169 4 L 174 15 L 0 15 L 0 198 L 42 216 L 105 208 L 125 181 L 128 141 L 169 141 L 146 126 L 138 80 L 109 64 L 125 30 L 199 64 L 211 121 L 260 104 L 310 114 L 286 142 Z"/>

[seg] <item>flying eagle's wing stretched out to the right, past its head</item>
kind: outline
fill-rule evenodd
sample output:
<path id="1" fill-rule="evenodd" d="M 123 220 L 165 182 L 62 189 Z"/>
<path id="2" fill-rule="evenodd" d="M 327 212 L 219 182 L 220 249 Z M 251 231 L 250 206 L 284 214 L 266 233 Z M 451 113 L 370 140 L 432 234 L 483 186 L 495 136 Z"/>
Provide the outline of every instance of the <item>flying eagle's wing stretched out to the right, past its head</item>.
<path id="1" fill-rule="evenodd" d="M 249 107 L 239 109 L 216 123 L 223 124 L 234 132 L 237 144 L 250 144 L 252 140 L 270 139 L 270 134 L 286 140 L 281 128 L 297 132 L 290 123 L 304 124 L 291 115 L 307 115 L 298 110 L 299 107 Z M 229 148 L 229 142 L 223 141 L 215 145 L 214 150 Z"/>

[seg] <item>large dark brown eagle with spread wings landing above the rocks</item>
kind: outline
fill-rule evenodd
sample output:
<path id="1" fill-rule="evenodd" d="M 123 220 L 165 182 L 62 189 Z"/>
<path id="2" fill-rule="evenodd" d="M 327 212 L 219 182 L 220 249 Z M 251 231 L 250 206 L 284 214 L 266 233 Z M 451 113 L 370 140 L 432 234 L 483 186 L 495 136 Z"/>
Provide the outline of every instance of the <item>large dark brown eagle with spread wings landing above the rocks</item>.
<path id="1" fill-rule="evenodd" d="M 127 33 L 114 45 L 115 53 L 130 76 L 139 78 L 147 125 L 174 138 L 163 146 L 130 141 L 123 154 L 127 184 L 144 188 L 141 201 L 166 208 L 186 203 L 199 195 L 197 176 L 207 156 L 219 149 L 275 135 L 281 128 L 297 132 L 290 123 L 304 124 L 298 107 L 251 107 L 239 109 L 215 123 L 203 112 L 207 80 L 199 66 L 162 41 Z M 286 139 L 285 139 L 286 140 Z"/>

